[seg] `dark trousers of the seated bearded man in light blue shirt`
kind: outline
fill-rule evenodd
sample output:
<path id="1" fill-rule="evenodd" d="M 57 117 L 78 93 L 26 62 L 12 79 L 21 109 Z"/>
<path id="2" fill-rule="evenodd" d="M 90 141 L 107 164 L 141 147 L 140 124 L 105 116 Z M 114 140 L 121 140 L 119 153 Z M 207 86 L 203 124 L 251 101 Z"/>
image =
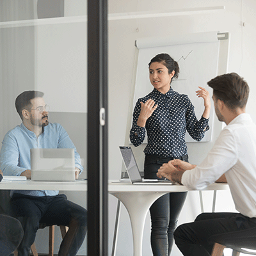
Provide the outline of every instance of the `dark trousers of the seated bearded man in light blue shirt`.
<path id="1" fill-rule="evenodd" d="M 18 248 L 19 256 L 29 255 L 40 223 L 69 227 L 58 255 L 76 255 L 86 235 L 86 209 L 68 201 L 65 195 L 28 196 L 18 193 L 13 194 L 11 207 L 24 229 L 24 237 Z"/>

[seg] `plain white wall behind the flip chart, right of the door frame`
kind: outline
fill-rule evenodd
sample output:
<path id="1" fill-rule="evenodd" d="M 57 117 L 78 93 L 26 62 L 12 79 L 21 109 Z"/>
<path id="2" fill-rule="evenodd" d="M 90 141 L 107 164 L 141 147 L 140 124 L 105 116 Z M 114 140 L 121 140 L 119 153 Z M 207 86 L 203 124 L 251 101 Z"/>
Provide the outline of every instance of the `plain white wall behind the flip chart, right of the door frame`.
<path id="1" fill-rule="evenodd" d="M 109 13 L 127 12 L 168 12 L 182 8 L 202 8 L 208 6 L 225 6 L 225 10 L 193 15 L 177 15 L 151 19 L 127 19 L 109 21 L 109 179 L 119 179 L 122 159 L 119 145 L 128 145 L 131 128 L 132 100 L 136 75 L 138 49 L 134 41 L 141 37 L 168 36 L 179 33 L 199 33 L 206 31 L 230 32 L 230 58 L 228 72 L 237 72 L 250 86 L 250 99 L 247 112 L 255 116 L 255 42 L 256 42 L 256 2 L 254 0 L 109 0 Z M 241 26 L 245 22 L 245 26 Z M 153 57 L 153 56 L 152 56 Z M 201 84 L 207 86 L 207 84 Z M 189 143 L 188 154 L 191 163 L 198 164 L 204 159 L 212 144 L 218 137 L 221 124 L 214 120 L 211 143 Z M 134 148 L 139 167 L 143 170 L 143 148 Z M 228 191 L 218 191 L 216 211 L 235 211 Z M 204 192 L 205 204 L 212 200 L 211 192 Z M 109 255 L 111 252 L 111 235 L 115 217 L 116 200 L 109 196 Z M 205 206 L 211 211 L 211 204 Z M 189 192 L 179 223 L 193 221 L 200 212 L 198 191 Z M 131 225 L 127 220 L 127 211 L 122 207 L 116 255 L 132 255 Z M 150 249 L 150 218 L 145 224 L 143 238 L 143 255 L 152 255 Z M 172 255 L 181 255 L 173 248 Z"/>

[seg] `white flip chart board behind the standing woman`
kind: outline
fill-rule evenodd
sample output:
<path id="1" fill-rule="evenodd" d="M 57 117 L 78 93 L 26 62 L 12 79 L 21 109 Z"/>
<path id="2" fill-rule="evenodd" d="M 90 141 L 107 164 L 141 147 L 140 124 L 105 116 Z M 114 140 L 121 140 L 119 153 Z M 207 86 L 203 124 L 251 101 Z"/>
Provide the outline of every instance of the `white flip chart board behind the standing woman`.
<path id="1" fill-rule="evenodd" d="M 198 42 L 197 42 L 198 41 Z M 149 47 L 151 45 L 154 47 Z M 160 46 L 156 46 L 160 44 Z M 202 86 L 209 90 L 212 96 L 212 90 L 207 85 L 207 81 L 216 77 L 218 72 L 218 56 L 219 56 L 219 40 L 217 32 L 194 33 L 191 35 L 182 35 L 175 38 L 142 38 L 136 41 L 139 47 L 138 64 L 136 70 L 136 83 L 134 90 L 133 108 L 137 100 L 145 97 L 154 88 L 149 81 L 148 63 L 159 53 L 168 53 L 173 60 L 178 61 L 180 73 L 178 79 L 173 79 L 173 90 L 188 95 L 193 106 L 195 106 L 195 115 L 198 120 L 204 112 L 204 100 L 196 97 L 198 86 Z M 213 102 L 209 119 L 209 131 L 205 132 L 205 136 L 201 141 L 211 141 L 212 122 L 213 122 Z M 188 132 L 185 136 L 186 142 L 195 142 Z M 143 143 L 147 143 L 147 138 Z"/>

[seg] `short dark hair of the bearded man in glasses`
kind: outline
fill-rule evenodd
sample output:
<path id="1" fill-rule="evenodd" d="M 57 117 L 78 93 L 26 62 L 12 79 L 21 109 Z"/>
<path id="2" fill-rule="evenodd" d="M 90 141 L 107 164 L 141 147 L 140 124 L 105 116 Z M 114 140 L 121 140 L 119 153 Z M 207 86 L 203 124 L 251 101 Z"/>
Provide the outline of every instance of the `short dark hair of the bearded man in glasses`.
<path id="1" fill-rule="evenodd" d="M 21 120 L 23 120 L 22 110 L 26 108 L 31 108 L 31 100 L 36 97 L 43 97 L 43 92 L 38 91 L 25 91 L 20 93 L 20 95 L 15 100 L 15 108 L 19 113 Z"/>

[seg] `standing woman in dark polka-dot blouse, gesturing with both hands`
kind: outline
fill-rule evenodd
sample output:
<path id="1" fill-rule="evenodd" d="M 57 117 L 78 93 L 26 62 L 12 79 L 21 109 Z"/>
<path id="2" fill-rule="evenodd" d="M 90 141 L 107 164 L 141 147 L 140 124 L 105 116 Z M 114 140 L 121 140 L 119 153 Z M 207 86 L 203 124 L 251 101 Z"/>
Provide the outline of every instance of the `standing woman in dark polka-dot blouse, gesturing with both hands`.
<path id="1" fill-rule="evenodd" d="M 185 132 L 197 141 L 209 130 L 211 100 L 209 92 L 200 87 L 198 97 L 204 99 L 204 113 L 198 121 L 188 95 L 173 91 L 170 84 L 179 76 L 179 65 L 169 54 L 158 54 L 148 64 L 150 83 L 154 90 L 138 99 L 133 113 L 130 140 L 137 147 L 145 139 L 144 177 L 157 178 L 157 170 L 172 159 L 188 161 Z M 186 199 L 187 192 L 168 193 L 150 207 L 151 247 L 154 256 L 170 255 L 173 232 Z"/>

